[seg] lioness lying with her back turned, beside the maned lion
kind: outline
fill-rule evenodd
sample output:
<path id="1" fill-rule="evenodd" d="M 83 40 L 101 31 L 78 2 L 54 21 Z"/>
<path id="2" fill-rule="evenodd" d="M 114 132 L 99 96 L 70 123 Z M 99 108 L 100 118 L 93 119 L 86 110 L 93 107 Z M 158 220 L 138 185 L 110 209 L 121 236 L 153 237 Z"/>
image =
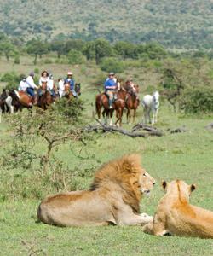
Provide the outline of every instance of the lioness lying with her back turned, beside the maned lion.
<path id="1" fill-rule="evenodd" d="M 162 183 L 164 197 L 159 201 L 153 223 L 143 231 L 156 236 L 172 234 L 213 238 L 213 212 L 189 204 L 189 196 L 195 185 L 176 180 Z"/>

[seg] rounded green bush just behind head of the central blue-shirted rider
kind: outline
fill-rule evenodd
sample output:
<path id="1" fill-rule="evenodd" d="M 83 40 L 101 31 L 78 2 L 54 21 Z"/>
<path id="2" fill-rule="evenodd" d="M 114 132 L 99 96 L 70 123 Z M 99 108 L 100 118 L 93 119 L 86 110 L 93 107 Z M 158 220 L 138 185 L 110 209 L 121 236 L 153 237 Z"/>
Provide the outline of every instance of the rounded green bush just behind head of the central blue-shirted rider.
<path id="1" fill-rule="evenodd" d="M 104 58 L 101 61 L 101 70 L 114 73 L 124 72 L 125 65 L 124 61 L 120 61 L 116 58 Z"/>

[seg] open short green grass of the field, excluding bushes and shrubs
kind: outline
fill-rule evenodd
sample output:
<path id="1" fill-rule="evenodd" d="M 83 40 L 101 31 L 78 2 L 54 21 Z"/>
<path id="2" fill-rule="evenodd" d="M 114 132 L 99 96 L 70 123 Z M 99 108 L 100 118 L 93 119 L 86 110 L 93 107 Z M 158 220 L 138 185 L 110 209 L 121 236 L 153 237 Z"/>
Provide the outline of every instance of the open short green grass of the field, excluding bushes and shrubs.
<path id="1" fill-rule="evenodd" d="M 16 70 L 26 72 L 26 61 L 20 66 L 12 67 L 2 61 L 0 64 L 5 68 L 4 72 Z M 30 63 L 30 62 L 29 62 Z M 66 73 L 66 65 L 56 66 L 52 64 L 51 70 L 55 77 Z M 55 66 L 54 66 L 55 65 Z M 5 67 L 6 66 L 6 67 Z M 39 66 L 43 68 L 42 64 Z M 32 67 L 33 69 L 34 67 Z M 78 78 L 83 81 L 83 100 L 86 100 L 85 115 L 90 123 L 92 119 L 95 99 L 95 90 L 90 83 L 95 77 L 89 79 L 79 67 L 73 67 Z M 95 72 L 95 67 L 87 67 L 88 73 Z M 96 71 L 99 75 L 99 70 Z M 136 73 L 136 71 L 134 71 Z M 124 74 L 123 74 L 124 75 Z M 146 80 L 147 76 L 141 74 L 138 78 Z M 147 79 L 148 80 L 148 79 Z M 142 91 L 146 91 L 144 88 Z M 141 121 L 142 109 L 139 108 L 136 122 Z M 62 146 L 55 152 L 67 166 L 81 167 L 85 175 L 78 177 L 77 189 L 87 189 L 95 172 L 95 165 L 107 160 L 112 160 L 127 153 L 138 153 L 142 156 L 142 166 L 147 169 L 157 184 L 149 197 L 141 201 L 141 212 L 153 214 L 158 200 L 164 195 L 160 187 L 162 180 L 170 181 L 175 178 L 183 179 L 187 183 L 196 183 L 197 190 L 193 192 L 192 203 L 213 210 L 212 207 L 212 172 L 213 172 L 213 133 L 205 129 L 205 125 L 212 122 L 213 116 L 183 116 L 181 113 L 170 111 L 165 102 L 162 103 L 159 111 L 158 128 L 167 131 L 169 128 L 176 128 L 185 125 L 187 132 L 179 134 L 166 133 L 164 137 L 131 138 L 118 134 L 95 135 L 95 143 L 89 143 L 84 148 L 83 154 L 93 155 L 93 158 L 79 159 L 69 150 L 68 146 Z M 124 119 L 125 122 L 125 119 Z M 125 129 L 130 125 L 124 123 Z M 11 143 L 11 133 L 5 119 L 0 125 L 0 156 L 5 153 L 5 148 Z M 43 150 L 43 145 L 40 145 Z M 73 146 L 78 152 L 78 146 Z M 36 148 L 35 148 L 36 150 Z M 86 153 L 85 153 L 86 152 Z M 1 163 L 1 160 L 0 160 Z M 92 169 L 87 175 L 89 168 Z M 22 173 L 23 170 L 0 169 L 1 177 L 9 172 L 10 177 Z M 32 177 L 33 172 L 25 171 L 23 175 Z M 34 184 L 33 184 L 34 185 Z M 13 183 L 1 182 L 2 189 L 10 190 Z M 23 187 L 32 186 L 31 183 L 22 184 Z M 12 188 L 13 189 L 13 188 Z M 14 194 L 19 191 L 14 190 Z M 56 191 L 55 191 L 56 193 Z M 46 195 L 45 187 L 41 191 L 41 197 Z M 12 199 L 13 198 L 13 199 Z M 87 228 L 57 228 L 46 224 L 37 224 L 37 206 L 40 199 L 12 196 L 11 199 L 0 202 L 0 247 L 1 255 L 212 255 L 213 241 L 196 238 L 181 237 L 154 237 L 141 232 L 141 227 L 87 227 Z"/>

